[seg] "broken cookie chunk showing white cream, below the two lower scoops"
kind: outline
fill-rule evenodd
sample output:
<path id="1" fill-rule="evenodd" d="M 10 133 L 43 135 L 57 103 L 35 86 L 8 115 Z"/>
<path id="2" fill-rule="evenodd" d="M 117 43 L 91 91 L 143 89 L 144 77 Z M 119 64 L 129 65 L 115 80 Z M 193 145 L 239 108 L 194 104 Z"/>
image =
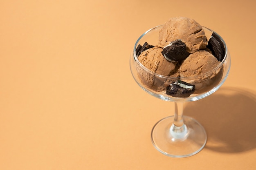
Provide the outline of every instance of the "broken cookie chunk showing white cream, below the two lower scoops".
<path id="1" fill-rule="evenodd" d="M 189 97 L 195 91 L 195 85 L 177 80 L 166 88 L 166 95 L 173 97 Z"/>

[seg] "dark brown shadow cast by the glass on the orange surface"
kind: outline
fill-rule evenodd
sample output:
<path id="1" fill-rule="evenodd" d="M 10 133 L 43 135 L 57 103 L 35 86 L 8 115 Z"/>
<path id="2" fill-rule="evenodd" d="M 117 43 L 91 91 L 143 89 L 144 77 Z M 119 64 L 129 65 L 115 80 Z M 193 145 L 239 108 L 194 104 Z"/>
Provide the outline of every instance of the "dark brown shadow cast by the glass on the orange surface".
<path id="1" fill-rule="evenodd" d="M 184 107 L 207 132 L 205 148 L 217 152 L 244 152 L 256 148 L 256 94 L 240 88 L 220 88 Z"/>

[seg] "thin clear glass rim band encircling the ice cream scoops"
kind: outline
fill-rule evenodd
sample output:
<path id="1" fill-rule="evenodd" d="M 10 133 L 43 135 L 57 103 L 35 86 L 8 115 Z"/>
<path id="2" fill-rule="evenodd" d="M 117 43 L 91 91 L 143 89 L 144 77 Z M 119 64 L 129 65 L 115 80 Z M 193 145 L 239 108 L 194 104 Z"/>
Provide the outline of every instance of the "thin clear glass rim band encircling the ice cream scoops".
<path id="1" fill-rule="evenodd" d="M 153 71 L 150 71 L 150 70 L 149 70 L 148 68 L 146 68 L 143 64 L 141 64 L 141 62 L 139 62 L 139 60 L 138 60 L 138 57 L 137 57 L 137 55 L 136 55 L 137 44 L 139 43 L 139 40 L 141 40 L 141 38 L 144 37 L 144 35 L 146 35 L 146 34 L 149 33 L 150 31 L 154 31 L 155 29 L 159 29 L 159 28 L 161 28 L 162 26 L 164 26 L 164 25 L 155 26 L 155 27 L 149 29 L 148 31 L 144 32 L 144 33 L 138 38 L 138 40 L 135 42 L 135 45 L 134 45 L 134 48 L 133 48 L 133 57 L 134 57 L 135 61 L 137 62 L 137 64 L 138 64 L 141 68 L 143 68 L 145 71 L 147 71 L 147 72 L 150 73 L 151 75 L 155 75 L 155 76 L 158 76 L 158 77 L 163 77 L 163 78 L 166 78 L 166 79 L 183 79 L 183 80 L 184 80 L 184 79 L 191 79 L 191 78 L 195 79 L 195 78 L 198 78 L 198 77 L 204 77 L 205 75 L 211 75 L 212 73 L 214 73 L 215 71 L 217 71 L 218 69 L 220 69 L 220 68 L 223 66 L 223 64 L 225 63 L 225 61 L 226 61 L 226 59 L 227 59 L 227 56 L 228 56 L 228 49 L 227 49 L 227 45 L 226 45 L 225 41 L 224 41 L 223 38 L 222 38 L 218 33 L 216 33 L 215 31 L 213 31 L 213 30 L 211 30 L 211 29 L 209 29 L 209 28 L 207 28 L 207 27 L 205 27 L 205 26 L 202 26 L 202 28 L 203 28 L 204 30 L 208 30 L 208 31 L 211 31 L 212 33 L 213 33 L 213 32 L 216 33 L 216 34 L 220 37 L 220 39 L 222 40 L 222 42 L 223 42 L 223 44 L 224 44 L 224 46 L 225 46 L 225 56 L 224 56 L 223 60 L 220 62 L 220 64 L 219 64 L 217 67 L 215 67 L 213 70 L 208 71 L 208 72 L 206 72 L 206 73 L 204 73 L 204 74 L 195 75 L 195 76 L 191 76 L 191 77 L 171 77 L 171 76 L 160 75 L 160 74 L 157 74 L 157 73 L 155 73 L 155 72 L 153 72 Z M 211 35 L 211 36 L 212 36 L 212 35 Z"/>

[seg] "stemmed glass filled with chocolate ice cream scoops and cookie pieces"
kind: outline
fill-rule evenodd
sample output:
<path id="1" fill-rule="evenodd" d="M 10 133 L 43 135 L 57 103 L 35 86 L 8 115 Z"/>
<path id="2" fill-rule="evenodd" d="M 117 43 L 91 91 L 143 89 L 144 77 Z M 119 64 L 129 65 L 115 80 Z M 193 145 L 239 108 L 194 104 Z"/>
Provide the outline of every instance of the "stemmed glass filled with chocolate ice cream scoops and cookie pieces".
<path id="1" fill-rule="evenodd" d="M 159 152 L 179 158 L 204 148 L 206 131 L 198 121 L 183 115 L 183 104 L 217 91 L 228 76 L 230 62 L 220 35 L 189 18 L 171 18 L 139 37 L 130 55 L 135 82 L 175 106 L 171 116 L 153 126 L 151 140 Z"/>

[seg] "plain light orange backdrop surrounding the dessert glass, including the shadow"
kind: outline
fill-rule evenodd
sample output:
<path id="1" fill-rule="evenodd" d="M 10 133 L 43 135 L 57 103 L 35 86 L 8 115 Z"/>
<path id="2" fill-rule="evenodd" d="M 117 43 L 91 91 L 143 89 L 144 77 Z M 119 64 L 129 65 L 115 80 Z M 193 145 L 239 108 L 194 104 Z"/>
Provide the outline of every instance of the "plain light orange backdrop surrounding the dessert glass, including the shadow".
<path id="1" fill-rule="evenodd" d="M 0 0 L 1 170 L 255 170 L 256 22 L 253 0 Z M 168 18 L 217 33 L 231 71 L 184 115 L 207 130 L 206 147 L 175 159 L 151 144 L 173 103 L 142 91 L 133 44 Z"/>

